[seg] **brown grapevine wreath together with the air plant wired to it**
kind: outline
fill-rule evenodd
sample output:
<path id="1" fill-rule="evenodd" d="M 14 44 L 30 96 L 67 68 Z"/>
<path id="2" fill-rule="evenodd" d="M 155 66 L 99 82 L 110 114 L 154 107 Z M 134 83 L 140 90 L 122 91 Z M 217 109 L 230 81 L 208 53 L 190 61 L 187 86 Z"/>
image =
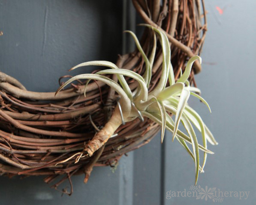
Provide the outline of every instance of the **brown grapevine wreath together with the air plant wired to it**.
<path id="1" fill-rule="evenodd" d="M 187 105 L 193 95 L 208 106 L 194 79 L 201 70 L 196 55 L 207 30 L 204 0 L 160 2 L 133 0 L 145 21 L 140 41 L 126 31 L 137 46 L 133 53 L 119 56 L 116 64 L 90 61 L 73 67 L 96 65 L 106 70 L 71 76 L 65 83 L 61 79 L 70 76 L 60 77 L 56 93 L 27 91 L 0 72 L 1 174 L 45 175 L 44 181 L 54 182 L 56 189 L 69 180 L 71 190 L 62 191 L 71 194 L 72 175 L 84 173 L 87 182 L 94 166 L 115 166 L 123 154 L 147 144 L 160 129 L 163 142 L 168 129 L 195 161 L 197 182 L 207 154 L 213 153 L 207 141 L 217 144 Z M 67 84 L 71 86 L 62 89 Z M 180 122 L 187 134 L 178 129 Z M 192 124 L 202 133 L 202 145 Z"/>

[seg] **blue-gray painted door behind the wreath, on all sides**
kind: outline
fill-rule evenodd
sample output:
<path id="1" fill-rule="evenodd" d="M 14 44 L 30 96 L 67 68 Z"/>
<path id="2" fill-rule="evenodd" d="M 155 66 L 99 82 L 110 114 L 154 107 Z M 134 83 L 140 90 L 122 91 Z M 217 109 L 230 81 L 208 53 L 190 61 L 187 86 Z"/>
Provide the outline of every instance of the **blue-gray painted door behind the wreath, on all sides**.
<path id="1" fill-rule="evenodd" d="M 121 11 L 121 3 L 0 0 L 0 30 L 4 32 L 0 37 L 0 70 L 30 90 L 54 91 L 58 77 L 75 64 L 96 59 L 115 61 L 116 54 L 121 53 L 122 18 L 111 11 L 113 6 Z M 222 15 L 216 6 L 223 9 Z M 206 1 L 208 35 L 201 55 L 203 70 L 196 82 L 212 114 L 193 97 L 189 102 L 219 142 L 218 146 L 209 145 L 215 154 L 208 155 L 198 184 L 223 192 L 250 191 L 246 200 L 224 197 L 225 205 L 252 205 L 256 201 L 255 8 L 254 0 Z M 128 153 L 115 173 L 109 167 L 96 167 L 87 185 L 83 177 L 72 178 L 71 197 L 61 197 L 42 182 L 42 177 L 0 177 L 0 205 L 214 204 L 210 199 L 194 197 L 166 199 L 167 191 L 189 191 L 194 182 L 193 161 L 180 144 L 171 142 L 169 133 L 163 145 L 158 135 Z"/>

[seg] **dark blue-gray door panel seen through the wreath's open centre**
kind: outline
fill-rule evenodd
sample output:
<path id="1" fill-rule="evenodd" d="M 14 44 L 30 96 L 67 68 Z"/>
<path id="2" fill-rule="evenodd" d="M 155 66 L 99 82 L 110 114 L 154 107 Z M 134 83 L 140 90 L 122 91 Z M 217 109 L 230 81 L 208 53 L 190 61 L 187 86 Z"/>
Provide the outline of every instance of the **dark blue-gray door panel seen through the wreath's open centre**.
<path id="1" fill-rule="evenodd" d="M 68 73 L 76 64 L 116 61 L 122 52 L 122 2 L 0 0 L 0 29 L 0 70 L 29 90 L 55 91 L 60 76 L 88 70 Z"/>

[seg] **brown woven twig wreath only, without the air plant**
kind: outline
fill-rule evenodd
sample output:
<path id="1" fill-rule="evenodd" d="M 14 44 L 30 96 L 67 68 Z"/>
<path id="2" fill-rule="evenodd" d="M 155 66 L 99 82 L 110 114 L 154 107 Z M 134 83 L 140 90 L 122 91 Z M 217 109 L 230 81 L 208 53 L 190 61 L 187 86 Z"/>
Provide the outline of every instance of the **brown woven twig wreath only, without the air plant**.
<path id="1" fill-rule="evenodd" d="M 163 6 L 160 2 L 133 0 L 145 23 L 166 33 L 176 80 L 187 59 L 199 55 L 202 49 L 207 29 L 204 0 L 163 0 Z M 147 55 L 153 38 L 148 31 L 146 28 L 140 41 Z M 116 64 L 137 73 L 145 70 L 138 50 L 119 56 Z M 157 47 L 149 90 L 157 85 L 161 64 L 162 50 Z M 200 69 L 196 61 L 189 78 L 195 87 L 194 74 Z M 116 105 L 114 91 L 105 89 L 108 87 L 102 82 L 92 81 L 84 97 L 85 82 L 78 81 L 54 97 L 54 92 L 27 91 L 18 80 L 5 73 L 0 73 L 0 81 L 0 173 L 9 177 L 45 175 L 44 181 L 50 183 L 63 175 L 63 179 L 53 185 L 56 189 L 66 179 L 71 183 L 70 177 L 74 174 L 85 173 L 84 182 L 87 182 L 93 166 L 115 166 L 123 154 L 147 144 L 160 129 L 149 119 L 144 122 L 136 119 L 120 126 L 118 137 L 109 139 L 92 157 L 81 158 L 77 164 L 72 159 L 54 166 L 81 151 L 95 134 L 95 127 L 104 126 Z M 126 78 L 126 81 L 135 89 L 133 79 Z"/>

